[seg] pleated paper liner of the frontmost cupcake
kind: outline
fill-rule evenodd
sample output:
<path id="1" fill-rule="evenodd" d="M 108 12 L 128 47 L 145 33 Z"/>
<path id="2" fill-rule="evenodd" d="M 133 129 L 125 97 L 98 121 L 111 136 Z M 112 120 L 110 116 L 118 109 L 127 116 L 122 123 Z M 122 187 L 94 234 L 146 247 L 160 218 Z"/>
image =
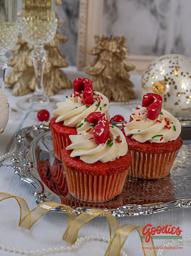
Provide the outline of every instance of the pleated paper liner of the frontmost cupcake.
<path id="1" fill-rule="evenodd" d="M 127 170 L 112 175 L 91 175 L 72 170 L 64 163 L 70 194 L 78 200 L 103 203 L 121 194 Z"/>

